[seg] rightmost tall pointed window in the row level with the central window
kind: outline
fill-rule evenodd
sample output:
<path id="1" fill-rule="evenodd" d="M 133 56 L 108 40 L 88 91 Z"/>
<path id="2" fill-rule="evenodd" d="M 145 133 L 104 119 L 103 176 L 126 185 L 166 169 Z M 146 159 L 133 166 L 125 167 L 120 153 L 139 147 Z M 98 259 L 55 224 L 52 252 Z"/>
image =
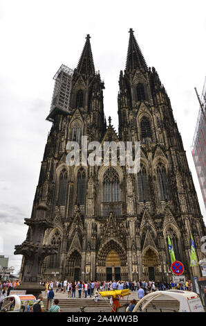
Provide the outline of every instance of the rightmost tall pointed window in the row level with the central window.
<path id="1" fill-rule="evenodd" d="M 165 166 L 160 162 L 157 166 L 158 186 L 160 190 L 160 200 L 169 199 L 169 187 Z"/>

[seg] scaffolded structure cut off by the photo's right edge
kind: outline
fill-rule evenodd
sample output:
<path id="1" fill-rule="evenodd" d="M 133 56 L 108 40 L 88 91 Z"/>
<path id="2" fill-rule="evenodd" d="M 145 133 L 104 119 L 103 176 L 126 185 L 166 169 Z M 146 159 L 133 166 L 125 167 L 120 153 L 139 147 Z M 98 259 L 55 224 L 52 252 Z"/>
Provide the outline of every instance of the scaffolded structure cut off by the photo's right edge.
<path id="1" fill-rule="evenodd" d="M 196 166 L 196 172 L 198 175 L 198 180 L 206 208 L 206 78 L 202 96 L 201 98 L 198 96 L 198 101 L 200 103 L 200 109 L 198 113 L 198 121 L 196 123 L 193 144 L 191 147 L 191 154 Z"/>

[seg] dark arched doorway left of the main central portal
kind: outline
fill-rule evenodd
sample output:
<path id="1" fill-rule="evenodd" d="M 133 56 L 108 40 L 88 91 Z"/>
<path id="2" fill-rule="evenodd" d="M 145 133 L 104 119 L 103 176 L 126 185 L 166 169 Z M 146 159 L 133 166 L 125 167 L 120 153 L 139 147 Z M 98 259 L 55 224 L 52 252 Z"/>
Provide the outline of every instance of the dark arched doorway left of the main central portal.
<path id="1" fill-rule="evenodd" d="M 66 263 L 66 275 L 70 281 L 82 280 L 82 257 L 77 250 L 73 251 L 71 255 L 68 256 Z"/>

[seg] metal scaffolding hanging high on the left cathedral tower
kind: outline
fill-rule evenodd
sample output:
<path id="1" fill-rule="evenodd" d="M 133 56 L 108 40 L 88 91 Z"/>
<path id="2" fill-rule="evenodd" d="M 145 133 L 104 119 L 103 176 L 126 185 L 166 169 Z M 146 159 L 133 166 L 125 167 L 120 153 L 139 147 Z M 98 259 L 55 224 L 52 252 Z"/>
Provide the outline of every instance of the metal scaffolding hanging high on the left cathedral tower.
<path id="1" fill-rule="evenodd" d="M 50 113 L 46 118 L 48 121 L 53 121 L 55 114 L 59 112 L 59 110 L 62 113 L 68 112 L 71 97 L 72 77 L 73 70 L 65 65 L 62 65 L 53 77 L 55 80 L 55 87 L 50 105 Z"/>

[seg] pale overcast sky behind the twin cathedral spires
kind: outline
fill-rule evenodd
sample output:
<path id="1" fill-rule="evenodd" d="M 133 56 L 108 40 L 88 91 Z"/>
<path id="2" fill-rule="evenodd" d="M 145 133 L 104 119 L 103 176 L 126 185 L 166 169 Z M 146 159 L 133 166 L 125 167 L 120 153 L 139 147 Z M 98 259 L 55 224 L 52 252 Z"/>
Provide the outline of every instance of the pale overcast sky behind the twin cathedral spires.
<path id="1" fill-rule="evenodd" d="M 129 28 L 147 65 L 167 90 L 182 135 L 201 212 L 205 207 L 191 157 L 198 100 L 206 76 L 206 2 L 196 1 L 0 1 L 0 255 L 17 272 L 15 244 L 26 239 L 32 201 L 51 124 L 45 121 L 60 65 L 74 69 L 86 34 L 104 90 L 106 119 L 118 131 L 118 78 L 124 70 Z M 1 246 L 2 247 L 2 246 Z"/>

